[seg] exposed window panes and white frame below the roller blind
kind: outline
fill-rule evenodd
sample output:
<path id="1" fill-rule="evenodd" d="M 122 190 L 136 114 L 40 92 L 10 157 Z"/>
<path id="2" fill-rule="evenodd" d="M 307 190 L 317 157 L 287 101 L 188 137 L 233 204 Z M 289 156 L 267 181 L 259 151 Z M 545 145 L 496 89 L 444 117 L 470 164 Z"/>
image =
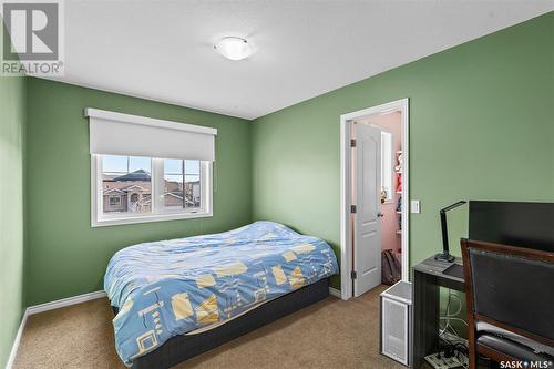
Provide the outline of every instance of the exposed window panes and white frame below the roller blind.
<path id="1" fill-rule="evenodd" d="M 211 162 L 93 155 L 93 225 L 209 216 Z"/>

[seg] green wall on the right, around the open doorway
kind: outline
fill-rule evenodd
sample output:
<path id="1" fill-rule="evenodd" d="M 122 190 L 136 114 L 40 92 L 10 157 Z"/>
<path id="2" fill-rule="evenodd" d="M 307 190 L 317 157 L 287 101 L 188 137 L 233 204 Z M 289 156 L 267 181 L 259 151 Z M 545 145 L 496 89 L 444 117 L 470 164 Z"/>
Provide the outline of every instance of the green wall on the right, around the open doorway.
<path id="1" fill-rule="evenodd" d="M 412 265 L 441 248 L 444 205 L 554 201 L 553 41 L 551 12 L 255 120 L 253 218 L 319 236 L 338 252 L 339 117 L 403 98 L 410 195 L 421 201 L 421 214 L 410 216 Z M 454 254 L 466 216 L 450 216 Z"/>

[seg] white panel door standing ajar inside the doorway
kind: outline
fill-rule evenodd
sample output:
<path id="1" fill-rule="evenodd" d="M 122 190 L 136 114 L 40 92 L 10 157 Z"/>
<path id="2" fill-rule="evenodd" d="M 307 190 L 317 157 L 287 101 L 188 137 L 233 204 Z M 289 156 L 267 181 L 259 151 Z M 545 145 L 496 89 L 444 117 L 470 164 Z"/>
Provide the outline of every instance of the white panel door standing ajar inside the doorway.
<path id="1" fill-rule="evenodd" d="M 353 296 L 381 284 L 381 131 L 352 124 Z"/>

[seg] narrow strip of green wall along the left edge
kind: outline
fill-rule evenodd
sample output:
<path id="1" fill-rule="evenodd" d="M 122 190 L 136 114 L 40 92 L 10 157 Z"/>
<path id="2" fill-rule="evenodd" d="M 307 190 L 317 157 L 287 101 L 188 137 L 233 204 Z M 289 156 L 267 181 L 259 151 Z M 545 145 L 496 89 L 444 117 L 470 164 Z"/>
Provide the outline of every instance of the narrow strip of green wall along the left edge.
<path id="1" fill-rule="evenodd" d="M 1 19 L 0 19 L 1 22 Z M 1 37 L 1 35 L 0 35 Z M 23 311 L 23 133 L 25 81 L 0 76 L 0 367 Z"/>

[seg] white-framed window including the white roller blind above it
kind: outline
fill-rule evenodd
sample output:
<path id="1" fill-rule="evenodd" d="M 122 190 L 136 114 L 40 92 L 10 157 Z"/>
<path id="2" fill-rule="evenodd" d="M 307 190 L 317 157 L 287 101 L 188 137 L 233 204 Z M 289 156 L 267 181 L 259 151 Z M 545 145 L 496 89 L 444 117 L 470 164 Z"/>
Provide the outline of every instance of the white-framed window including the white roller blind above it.
<path id="1" fill-rule="evenodd" d="M 217 130 L 85 109 L 92 226 L 212 216 Z"/>

